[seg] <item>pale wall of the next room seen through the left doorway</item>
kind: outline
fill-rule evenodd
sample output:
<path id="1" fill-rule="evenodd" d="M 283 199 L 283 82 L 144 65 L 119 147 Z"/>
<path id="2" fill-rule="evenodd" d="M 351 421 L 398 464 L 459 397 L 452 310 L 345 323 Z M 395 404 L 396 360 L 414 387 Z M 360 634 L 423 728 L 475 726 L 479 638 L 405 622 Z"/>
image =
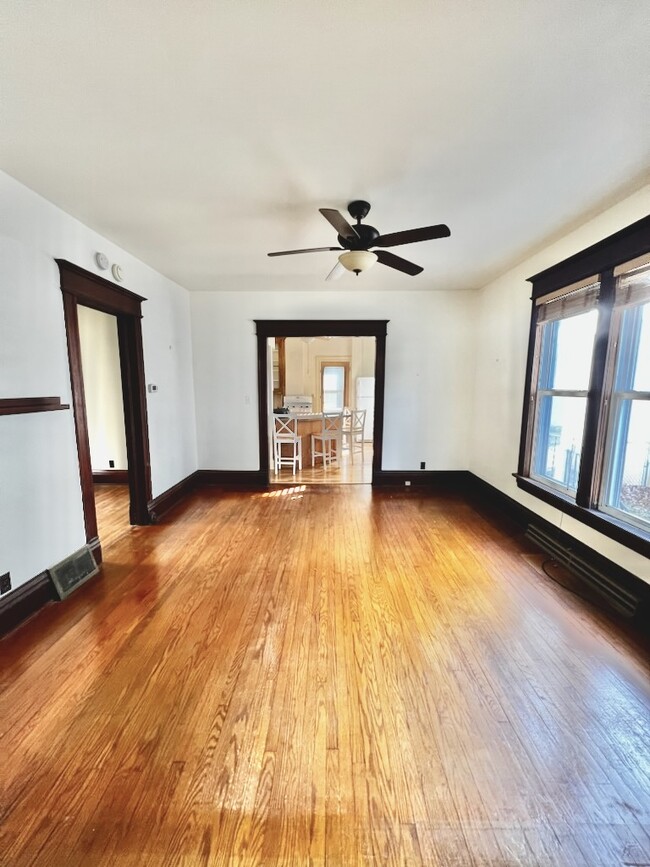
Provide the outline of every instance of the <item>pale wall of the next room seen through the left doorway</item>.
<path id="1" fill-rule="evenodd" d="M 79 306 L 79 342 L 93 471 L 128 468 L 117 317 Z"/>

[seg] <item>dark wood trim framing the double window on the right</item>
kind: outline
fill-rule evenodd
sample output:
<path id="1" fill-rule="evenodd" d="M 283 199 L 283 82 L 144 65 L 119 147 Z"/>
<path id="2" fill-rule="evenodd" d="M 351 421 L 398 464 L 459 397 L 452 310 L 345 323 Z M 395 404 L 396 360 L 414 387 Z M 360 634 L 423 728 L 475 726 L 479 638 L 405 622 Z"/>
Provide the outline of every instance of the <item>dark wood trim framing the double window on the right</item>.
<path id="1" fill-rule="evenodd" d="M 631 550 L 650 556 L 650 533 L 637 529 L 596 508 L 599 479 L 602 470 L 603 437 L 600 426 L 601 405 L 606 377 L 610 321 L 614 300 L 614 268 L 645 255 L 650 250 L 650 216 L 610 235 L 586 250 L 559 262 L 545 271 L 529 277 L 532 283 L 532 312 L 526 364 L 526 387 L 519 445 L 519 462 L 514 474 L 522 490 L 560 511 L 571 515 L 604 536 L 614 539 Z M 580 280 L 598 275 L 600 279 L 599 323 L 594 343 L 592 375 L 587 399 L 585 433 L 578 489 L 575 501 L 530 478 L 532 449 L 532 395 L 536 376 L 535 337 L 537 333 L 536 305 L 538 298 Z"/>

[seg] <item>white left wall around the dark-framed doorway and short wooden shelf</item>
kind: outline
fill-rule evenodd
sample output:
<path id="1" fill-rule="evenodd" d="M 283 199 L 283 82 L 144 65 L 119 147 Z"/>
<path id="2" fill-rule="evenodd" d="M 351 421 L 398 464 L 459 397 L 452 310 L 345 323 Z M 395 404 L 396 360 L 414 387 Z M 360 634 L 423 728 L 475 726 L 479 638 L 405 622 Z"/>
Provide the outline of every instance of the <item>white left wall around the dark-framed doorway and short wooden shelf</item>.
<path id="1" fill-rule="evenodd" d="M 0 173 L 0 396 L 70 403 L 55 258 L 96 271 L 102 250 L 143 303 L 153 496 L 197 468 L 187 292 Z M 109 279 L 110 279 L 110 272 Z M 102 276 L 106 276 L 106 272 Z M 14 588 L 84 544 L 72 411 L 0 417 L 0 572 Z"/>

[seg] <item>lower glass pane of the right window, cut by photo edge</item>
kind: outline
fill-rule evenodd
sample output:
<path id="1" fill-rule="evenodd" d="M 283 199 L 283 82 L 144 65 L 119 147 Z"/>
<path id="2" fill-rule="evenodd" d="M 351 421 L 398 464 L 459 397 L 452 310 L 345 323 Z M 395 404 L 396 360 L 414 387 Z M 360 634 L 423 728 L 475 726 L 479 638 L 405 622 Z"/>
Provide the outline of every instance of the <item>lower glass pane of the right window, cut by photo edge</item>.
<path id="1" fill-rule="evenodd" d="M 610 440 L 605 505 L 650 526 L 650 400 L 619 400 Z"/>

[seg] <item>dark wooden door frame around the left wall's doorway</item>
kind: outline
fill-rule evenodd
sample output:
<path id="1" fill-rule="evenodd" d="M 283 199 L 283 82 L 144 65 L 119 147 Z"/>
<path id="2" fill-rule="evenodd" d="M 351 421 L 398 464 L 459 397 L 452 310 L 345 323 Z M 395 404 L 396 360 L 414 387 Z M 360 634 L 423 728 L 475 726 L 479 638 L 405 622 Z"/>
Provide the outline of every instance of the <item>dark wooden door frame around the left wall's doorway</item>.
<path id="1" fill-rule="evenodd" d="M 141 305 L 146 299 L 64 259 L 56 261 L 63 293 L 86 542 L 93 548 L 96 559 L 101 560 L 78 308 L 79 306 L 90 307 L 114 316 L 117 321 L 128 465 L 129 521 L 131 524 L 146 525 L 152 523 L 149 511 L 151 469 L 141 328 Z"/>

